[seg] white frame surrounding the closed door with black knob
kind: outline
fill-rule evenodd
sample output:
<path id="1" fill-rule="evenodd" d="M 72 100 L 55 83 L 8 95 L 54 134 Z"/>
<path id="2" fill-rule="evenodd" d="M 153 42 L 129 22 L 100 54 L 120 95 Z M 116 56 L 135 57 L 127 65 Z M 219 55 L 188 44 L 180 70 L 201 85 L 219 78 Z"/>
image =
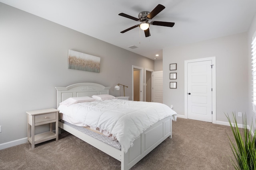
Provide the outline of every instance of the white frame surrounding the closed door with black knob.
<path id="1" fill-rule="evenodd" d="M 193 59 L 184 61 L 184 99 L 185 115 L 188 119 L 188 63 L 200 61 L 212 61 L 212 123 L 216 124 L 216 57 L 207 57 L 202 59 Z"/>

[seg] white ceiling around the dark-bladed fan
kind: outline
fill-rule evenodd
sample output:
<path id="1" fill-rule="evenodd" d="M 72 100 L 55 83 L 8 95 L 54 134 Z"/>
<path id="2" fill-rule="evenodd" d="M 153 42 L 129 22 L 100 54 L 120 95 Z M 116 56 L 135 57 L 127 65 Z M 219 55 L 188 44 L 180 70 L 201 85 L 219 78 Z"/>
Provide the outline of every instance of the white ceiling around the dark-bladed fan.
<path id="1" fill-rule="evenodd" d="M 256 0 L 0 0 L 20 10 L 122 47 L 150 59 L 162 59 L 162 49 L 248 31 Z M 138 18 L 158 4 L 166 8 L 152 21 L 175 22 L 174 27 L 150 26 L 150 37 L 136 27 L 138 22 L 118 16 L 123 12 Z M 138 48 L 130 49 L 135 45 Z M 155 57 L 156 54 L 159 57 Z"/>

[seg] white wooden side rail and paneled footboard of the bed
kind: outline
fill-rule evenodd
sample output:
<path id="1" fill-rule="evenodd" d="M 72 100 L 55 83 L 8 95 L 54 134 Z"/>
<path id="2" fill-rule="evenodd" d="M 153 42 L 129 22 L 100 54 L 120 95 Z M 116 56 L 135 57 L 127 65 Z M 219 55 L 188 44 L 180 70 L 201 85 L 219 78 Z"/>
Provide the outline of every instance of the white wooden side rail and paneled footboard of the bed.
<path id="1" fill-rule="evenodd" d="M 119 160 L 121 162 L 121 170 L 129 170 L 166 138 L 172 137 L 172 116 L 158 121 L 152 127 L 144 131 L 140 137 L 135 139 L 133 147 L 130 147 L 127 153 L 107 145 L 94 137 L 86 135 L 60 121 L 59 127 Z"/>

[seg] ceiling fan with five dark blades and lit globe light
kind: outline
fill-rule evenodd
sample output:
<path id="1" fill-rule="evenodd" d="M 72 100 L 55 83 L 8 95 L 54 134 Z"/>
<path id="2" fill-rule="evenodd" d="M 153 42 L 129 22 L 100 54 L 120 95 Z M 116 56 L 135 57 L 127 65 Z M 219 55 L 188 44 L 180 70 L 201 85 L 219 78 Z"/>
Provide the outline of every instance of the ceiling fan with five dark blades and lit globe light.
<path id="1" fill-rule="evenodd" d="M 165 27 L 173 27 L 174 26 L 174 22 L 164 22 L 164 21 L 151 21 L 152 18 L 154 18 L 158 13 L 160 13 L 162 10 L 164 10 L 164 6 L 161 4 L 158 4 L 156 6 L 156 8 L 154 8 L 154 10 L 152 10 L 151 12 L 148 11 L 143 11 L 140 12 L 140 14 L 138 15 L 138 18 L 135 18 L 133 16 L 129 16 L 127 14 L 124 13 L 120 13 L 118 15 L 126 17 L 126 18 L 130 18 L 132 20 L 135 21 L 140 21 L 140 24 L 134 25 L 128 29 L 125 29 L 124 31 L 121 31 L 120 33 L 125 33 L 126 31 L 129 31 L 131 29 L 134 29 L 136 27 L 140 27 L 142 30 L 144 30 L 145 36 L 149 37 L 150 36 L 150 31 L 149 31 L 149 26 L 150 25 L 160 25 L 160 26 L 165 26 Z"/>

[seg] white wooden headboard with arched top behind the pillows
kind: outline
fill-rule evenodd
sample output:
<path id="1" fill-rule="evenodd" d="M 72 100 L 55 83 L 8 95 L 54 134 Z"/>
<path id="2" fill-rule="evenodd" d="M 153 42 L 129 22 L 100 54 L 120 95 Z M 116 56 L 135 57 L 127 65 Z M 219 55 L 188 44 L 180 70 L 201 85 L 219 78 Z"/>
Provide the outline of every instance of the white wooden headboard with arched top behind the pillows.
<path id="1" fill-rule="evenodd" d="M 72 98 L 72 97 L 83 97 L 93 96 L 99 94 L 109 94 L 110 87 L 102 86 L 96 83 L 77 83 L 67 87 L 55 87 L 57 90 L 57 108 L 60 102 Z"/>

